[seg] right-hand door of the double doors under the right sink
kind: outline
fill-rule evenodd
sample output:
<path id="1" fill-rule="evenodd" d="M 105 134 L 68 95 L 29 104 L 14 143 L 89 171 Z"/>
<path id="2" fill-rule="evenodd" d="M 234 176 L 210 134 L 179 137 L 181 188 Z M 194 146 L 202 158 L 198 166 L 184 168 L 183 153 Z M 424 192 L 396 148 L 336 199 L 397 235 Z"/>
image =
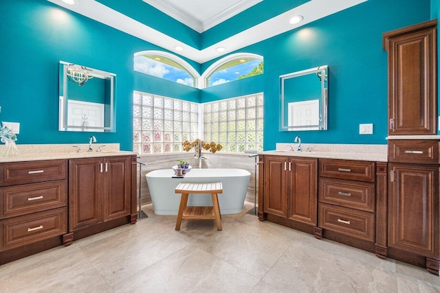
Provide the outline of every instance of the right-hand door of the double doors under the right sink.
<path id="1" fill-rule="evenodd" d="M 318 159 L 289 159 L 289 219 L 317 225 Z"/>

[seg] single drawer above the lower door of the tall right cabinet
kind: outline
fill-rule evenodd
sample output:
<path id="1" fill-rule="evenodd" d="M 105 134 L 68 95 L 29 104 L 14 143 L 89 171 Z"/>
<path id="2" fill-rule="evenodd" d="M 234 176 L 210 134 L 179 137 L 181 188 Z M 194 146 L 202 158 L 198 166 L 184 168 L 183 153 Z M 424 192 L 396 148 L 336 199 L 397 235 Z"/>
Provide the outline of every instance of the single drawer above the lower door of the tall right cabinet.
<path id="1" fill-rule="evenodd" d="M 388 161 L 393 163 L 439 164 L 439 141 L 389 140 Z"/>

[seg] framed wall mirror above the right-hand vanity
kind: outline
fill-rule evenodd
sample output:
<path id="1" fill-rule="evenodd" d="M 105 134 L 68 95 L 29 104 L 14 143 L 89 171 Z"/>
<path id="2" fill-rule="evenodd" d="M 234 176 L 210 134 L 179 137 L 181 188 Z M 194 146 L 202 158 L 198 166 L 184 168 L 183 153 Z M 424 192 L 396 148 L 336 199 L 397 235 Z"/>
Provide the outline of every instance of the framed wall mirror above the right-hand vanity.
<path id="1" fill-rule="evenodd" d="M 327 130 L 327 65 L 280 75 L 280 131 Z"/>

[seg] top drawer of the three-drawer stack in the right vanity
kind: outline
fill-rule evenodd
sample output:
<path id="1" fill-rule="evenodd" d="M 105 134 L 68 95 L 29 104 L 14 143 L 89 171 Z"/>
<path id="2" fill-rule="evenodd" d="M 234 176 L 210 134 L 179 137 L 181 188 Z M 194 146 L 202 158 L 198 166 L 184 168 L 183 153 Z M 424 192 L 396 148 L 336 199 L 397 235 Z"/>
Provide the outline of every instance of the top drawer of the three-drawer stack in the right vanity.
<path id="1" fill-rule="evenodd" d="M 368 161 L 319 160 L 319 176 L 374 182 L 375 163 Z"/>

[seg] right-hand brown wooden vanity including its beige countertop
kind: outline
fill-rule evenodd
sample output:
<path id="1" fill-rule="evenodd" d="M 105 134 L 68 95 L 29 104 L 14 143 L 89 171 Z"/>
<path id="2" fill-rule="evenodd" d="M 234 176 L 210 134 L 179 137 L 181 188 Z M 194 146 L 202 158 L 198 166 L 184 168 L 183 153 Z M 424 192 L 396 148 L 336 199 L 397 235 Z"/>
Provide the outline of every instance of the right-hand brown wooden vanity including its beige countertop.
<path id="1" fill-rule="evenodd" d="M 386 145 L 382 154 L 262 152 L 259 220 L 386 258 Z M 356 146 L 351 146 L 356 148 Z"/>

